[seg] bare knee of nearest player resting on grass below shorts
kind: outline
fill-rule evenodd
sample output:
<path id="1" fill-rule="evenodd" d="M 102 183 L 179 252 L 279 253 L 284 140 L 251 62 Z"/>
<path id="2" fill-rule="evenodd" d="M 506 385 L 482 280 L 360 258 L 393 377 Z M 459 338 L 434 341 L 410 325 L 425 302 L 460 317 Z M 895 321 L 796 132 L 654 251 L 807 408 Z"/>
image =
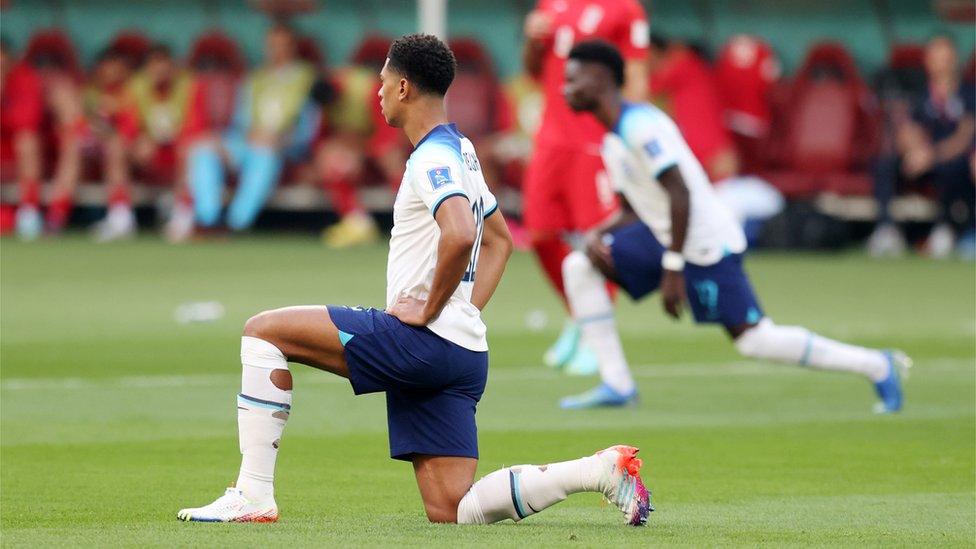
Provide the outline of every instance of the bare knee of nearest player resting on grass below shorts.
<path id="1" fill-rule="evenodd" d="M 474 483 L 478 460 L 470 457 L 416 455 L 417 477 L 424 510 L 431 522 L 457 522 L 457 507 Z"/>

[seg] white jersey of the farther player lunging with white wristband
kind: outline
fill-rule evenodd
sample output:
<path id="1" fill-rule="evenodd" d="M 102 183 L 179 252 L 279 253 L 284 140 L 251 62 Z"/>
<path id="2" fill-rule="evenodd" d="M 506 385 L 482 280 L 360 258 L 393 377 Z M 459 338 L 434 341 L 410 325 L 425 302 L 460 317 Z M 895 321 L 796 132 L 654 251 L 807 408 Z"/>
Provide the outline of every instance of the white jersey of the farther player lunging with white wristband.
<path id="1" fill-rule="evenodd" d="M 661 244 L 671 245 L 671 200 L 657 178 L 676 166 L 691 202 L 685 260 L 712 265 L 728 253 L 745 251 L 742 227 L 719 200 L 678 127 L 660 109 L 625 103 L 617 126 L 604 136 L 601 153 L 614 187 Z"/>

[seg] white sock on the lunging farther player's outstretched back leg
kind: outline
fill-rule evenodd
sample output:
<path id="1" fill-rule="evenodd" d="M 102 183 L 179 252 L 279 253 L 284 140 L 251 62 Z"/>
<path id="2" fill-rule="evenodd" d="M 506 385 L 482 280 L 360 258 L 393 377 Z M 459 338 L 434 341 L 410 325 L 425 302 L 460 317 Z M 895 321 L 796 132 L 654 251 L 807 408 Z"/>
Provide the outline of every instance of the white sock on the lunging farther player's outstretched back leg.
<path id="1" fill-rule="evenodd" d="M 736 338 L 735 347 L 750 358 L 854 372 L 875 382 L 888 377 L 888 359 L 881 351 L 834 341 L 799 326 L 777 326 L 768 318 Z"/>

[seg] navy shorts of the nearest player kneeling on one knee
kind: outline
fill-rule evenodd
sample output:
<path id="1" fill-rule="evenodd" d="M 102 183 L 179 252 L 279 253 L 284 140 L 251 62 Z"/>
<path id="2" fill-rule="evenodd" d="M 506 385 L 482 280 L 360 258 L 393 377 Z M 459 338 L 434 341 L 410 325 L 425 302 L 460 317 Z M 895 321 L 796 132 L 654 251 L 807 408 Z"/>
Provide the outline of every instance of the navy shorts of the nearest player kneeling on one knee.
<path id="1" fill-rule="evenodd" d="M 386 393 L 390 457 L 478 457 L 475 410 L 488 352 L 465 349 L 385 311 L 330 305 L 357 395 Z"/>

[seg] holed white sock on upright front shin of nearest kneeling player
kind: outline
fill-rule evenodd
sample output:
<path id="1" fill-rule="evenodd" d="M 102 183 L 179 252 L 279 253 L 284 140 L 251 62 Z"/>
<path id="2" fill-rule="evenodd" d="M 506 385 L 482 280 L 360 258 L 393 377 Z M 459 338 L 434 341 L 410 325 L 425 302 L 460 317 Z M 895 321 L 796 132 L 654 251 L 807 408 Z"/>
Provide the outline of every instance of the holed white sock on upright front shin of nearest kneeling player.
<path id="1" fill-rule="evenodd" d="M 263 339 L 241 338 L 241 394 L 237 397 L 237 428 L 241 443 L 241 471 L 237 488 L 248 499 L 274 496 L 274 467 L 278 444 L 291 413 L 291 391 L 271 382 L 271 372 L 288 370 L 281 351 Z"/>

